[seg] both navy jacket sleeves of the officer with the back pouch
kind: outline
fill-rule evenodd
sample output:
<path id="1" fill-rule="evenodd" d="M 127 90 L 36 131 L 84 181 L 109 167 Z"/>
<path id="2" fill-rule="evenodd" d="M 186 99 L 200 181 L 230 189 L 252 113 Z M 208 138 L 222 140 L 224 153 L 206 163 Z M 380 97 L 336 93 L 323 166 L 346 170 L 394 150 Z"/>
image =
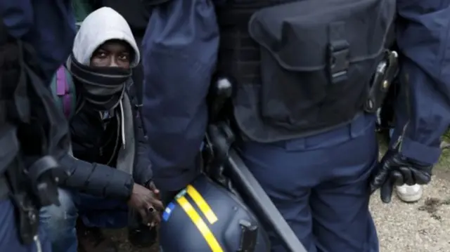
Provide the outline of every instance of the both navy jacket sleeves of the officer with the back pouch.
<path id="1" fill-rule="evenodd" d="M 218 43 L 214 13 L 207 3 L 175 0 L 165 10 L 155 8 L 143 41 L 143 114 L 155 180 L 163 190 L 186 185 L 205 133 L 204 98 Z M 449 0 L 397 4 L 401 76 L 408 81 L 403 81 L 397 101 L 392 141 L 401 135 L 400 151 L 406 157 L 434 164 L 439 138 L 450 124 Z M 199 6 L 206 7 L 197 11 Z"/>

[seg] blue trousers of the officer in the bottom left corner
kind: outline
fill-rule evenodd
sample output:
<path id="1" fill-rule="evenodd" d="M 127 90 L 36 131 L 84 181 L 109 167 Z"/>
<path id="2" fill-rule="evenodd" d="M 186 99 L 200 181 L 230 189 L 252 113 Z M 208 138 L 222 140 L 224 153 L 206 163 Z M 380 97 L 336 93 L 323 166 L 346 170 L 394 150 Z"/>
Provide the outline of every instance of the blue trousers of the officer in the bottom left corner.
<path id="1" fill-rule="evenodd" d="M 8 252 L 40 252 L 38 244 L 20 244 L 18 228 L 15 223 L 15 208 L 10 200 L 0 201 L 0 251 Z M 41 252 L 51 252 L 49 240 L 42 229 L 39 229 Z"/>

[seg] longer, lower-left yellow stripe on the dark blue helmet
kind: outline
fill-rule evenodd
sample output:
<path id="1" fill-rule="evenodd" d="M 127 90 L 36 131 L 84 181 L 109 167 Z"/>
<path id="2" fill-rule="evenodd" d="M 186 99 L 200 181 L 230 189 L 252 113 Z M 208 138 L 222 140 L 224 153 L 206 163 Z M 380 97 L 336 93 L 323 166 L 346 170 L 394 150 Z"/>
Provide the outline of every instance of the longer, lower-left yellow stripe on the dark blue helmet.
<path id="1" fill-rule="evenodd" d="M 183 208 L 184 212 L 189 216 L 189 218 L 194 223 L 195 227 L 197 227 L 198 231 L 203 235 L 208 246 L 210 246 L 212 252 L 224 252 L 221 248 L 219 242 L 217 241 L 214 234 L 212 234 L 210 227 L 206 225 L 200 215 L 195 211 L 195 208 L 189 203 L 186 197 L 181 196 L 176 199 L 176 202 L 180 204 L 181 208 Z"/>

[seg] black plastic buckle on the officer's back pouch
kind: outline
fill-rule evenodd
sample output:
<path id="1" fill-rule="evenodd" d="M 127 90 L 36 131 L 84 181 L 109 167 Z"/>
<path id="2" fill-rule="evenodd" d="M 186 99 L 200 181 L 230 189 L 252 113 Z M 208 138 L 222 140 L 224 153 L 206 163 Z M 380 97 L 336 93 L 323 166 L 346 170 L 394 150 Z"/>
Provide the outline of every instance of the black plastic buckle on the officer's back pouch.
<path id="1" fill-rule="evenodd" d="M 349 44 L 345 40 L 332 41 L 328 44 L 328 72 L 333 84 L 347 80 L 349 53 Z"/>

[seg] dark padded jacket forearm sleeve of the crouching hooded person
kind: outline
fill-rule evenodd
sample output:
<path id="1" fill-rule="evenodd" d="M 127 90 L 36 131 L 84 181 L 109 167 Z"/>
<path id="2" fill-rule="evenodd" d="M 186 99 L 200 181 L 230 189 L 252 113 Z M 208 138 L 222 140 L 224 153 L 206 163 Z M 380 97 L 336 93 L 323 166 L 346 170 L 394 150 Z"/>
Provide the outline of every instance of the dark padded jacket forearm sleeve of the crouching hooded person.
<path id="1" fill-rule="evenodd" d="M 60 181 L 63 187 L 109 199 L 127 200 L 131 196 L 134 181 L 124 171 L 82 161 L 70 154 L 64 155 L 60 164 L 70 173 L 66 180 Z"/>

